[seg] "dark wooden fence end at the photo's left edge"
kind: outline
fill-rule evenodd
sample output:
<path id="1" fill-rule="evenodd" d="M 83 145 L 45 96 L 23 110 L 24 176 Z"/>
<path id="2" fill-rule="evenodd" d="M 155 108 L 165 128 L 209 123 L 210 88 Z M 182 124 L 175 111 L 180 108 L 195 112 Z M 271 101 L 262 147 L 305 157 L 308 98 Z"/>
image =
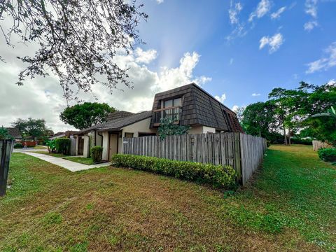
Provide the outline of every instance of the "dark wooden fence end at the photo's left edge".
<path id="1" fill-rule="evenodd" d="M 6 194 L 9 160 L 13 146 L 13 140 L 0 140 L 0 196 Z"/>

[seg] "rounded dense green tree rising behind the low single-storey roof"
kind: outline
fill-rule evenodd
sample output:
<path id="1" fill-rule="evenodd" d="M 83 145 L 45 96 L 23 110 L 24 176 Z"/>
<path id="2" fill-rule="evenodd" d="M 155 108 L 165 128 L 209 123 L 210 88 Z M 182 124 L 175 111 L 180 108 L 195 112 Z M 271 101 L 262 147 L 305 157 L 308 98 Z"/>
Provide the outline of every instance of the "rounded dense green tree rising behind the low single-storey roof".
<path id="1" fill-rule="evenodd" d="M 69 106 L 60 114 L 59 118 L 76 129 L 83 130 L 99 123 L 105 123 L 109 113 L 115 112 L 116 109 L 108 104 L 99 104 L 97 102 L 85 102 Z"/>

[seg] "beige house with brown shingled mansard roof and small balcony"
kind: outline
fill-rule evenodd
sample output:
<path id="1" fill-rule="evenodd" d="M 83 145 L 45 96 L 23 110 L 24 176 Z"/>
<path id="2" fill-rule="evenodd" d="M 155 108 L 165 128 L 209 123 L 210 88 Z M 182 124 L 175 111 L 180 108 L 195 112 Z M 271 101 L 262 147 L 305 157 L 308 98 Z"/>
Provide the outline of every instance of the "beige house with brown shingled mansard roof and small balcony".
<path id="1" fill-rule="evenodd" d="M 235 112 L 195 83 L 155 94 L 153 109 L 140 113 L 117 111 L 106 123 L 76 134 L 76 155 L 87 157 L 92 146 L 103 147 L 103 160 L 123 152 L 123 138 L 158 134 L 160 119 L 190 125 L 188 134 L 243 132 Z"/>

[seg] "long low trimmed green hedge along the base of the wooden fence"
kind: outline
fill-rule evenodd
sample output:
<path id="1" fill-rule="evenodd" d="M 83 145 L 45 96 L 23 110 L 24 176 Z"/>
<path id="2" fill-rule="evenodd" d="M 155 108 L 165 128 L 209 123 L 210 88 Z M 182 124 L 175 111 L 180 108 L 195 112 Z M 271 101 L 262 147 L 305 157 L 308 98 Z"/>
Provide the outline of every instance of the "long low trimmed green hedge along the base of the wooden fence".
<path id="1" fill-rule="evenodd" d="M 216 188 L 232 188 L 236 183 L 235 169 L 230 166 L 125 154 L 113 155 L 111 161 L 116 167 L 130 167 L 188 181 L 209 183 Z"/>

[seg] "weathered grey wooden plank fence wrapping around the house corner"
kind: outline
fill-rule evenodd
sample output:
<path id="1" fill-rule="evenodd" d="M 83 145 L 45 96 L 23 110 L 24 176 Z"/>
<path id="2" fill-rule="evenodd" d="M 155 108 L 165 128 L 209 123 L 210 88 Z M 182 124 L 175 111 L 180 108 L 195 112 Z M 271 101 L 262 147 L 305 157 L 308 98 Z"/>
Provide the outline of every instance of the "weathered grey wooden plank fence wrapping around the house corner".
<path id="1" fill-rule="evenodd" d="M 237 181 L 245 184 L 262 162 L 266 140 L 241 133 L 185 134 L 124 138 L 123 153 L 169 160 L 230 165 Z"/>

